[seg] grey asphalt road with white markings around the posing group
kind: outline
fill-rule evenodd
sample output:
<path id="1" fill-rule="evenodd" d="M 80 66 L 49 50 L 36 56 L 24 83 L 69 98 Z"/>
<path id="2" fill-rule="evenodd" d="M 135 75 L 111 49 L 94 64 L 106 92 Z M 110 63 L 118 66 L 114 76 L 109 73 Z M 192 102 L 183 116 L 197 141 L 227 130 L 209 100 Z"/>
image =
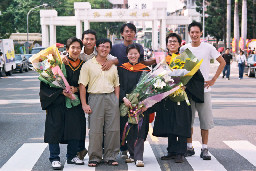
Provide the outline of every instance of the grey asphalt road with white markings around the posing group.
<path id="1" fill-rule="evenodd" d="M 211 75 L 216 70 L 211 65 Z M 98 168 L 65 164 L 66 145 L 61 145 L 63 170 L 255 170 L 256 171 L 256 78 L 238 80 L 236 64 L 231 67 L 231 80 L 220 77 L 212 88 L 215 127 L 210 130 L 211 161 L 200 159 L 200 130 L 196 117 L 193 146 L 196 155 L 182 164 L 161 161 L 166 153 L 167 139 L 150 133 L 145 143 L 144 168 L 127 165 L 118 158 L 119 166 L 105 164 Z M 0 79 L 0 170 L 48 171 L 49 150 L 43 143 L 45 112 L 39 103 L 37 73 L 16 73 Z M 153 126 L 153 124 L 152 124 Z M 88 132 L 87 132 L 88 133 Z M 88 141 L 88 137 L 86 139 Z M 87 143 L 88 145 L 88 143 Z"/>

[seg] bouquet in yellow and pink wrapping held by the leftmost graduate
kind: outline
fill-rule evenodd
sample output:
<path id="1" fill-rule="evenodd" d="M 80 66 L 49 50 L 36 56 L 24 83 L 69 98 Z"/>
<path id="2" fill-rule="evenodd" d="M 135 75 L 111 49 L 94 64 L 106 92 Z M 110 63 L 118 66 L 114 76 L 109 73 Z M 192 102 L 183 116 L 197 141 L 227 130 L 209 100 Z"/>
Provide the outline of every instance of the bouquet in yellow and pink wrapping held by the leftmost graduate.
<path id="1" fill-rule="evenodd" d="M 34 69 L 39 73 L 38 79 L 51 87 L 62 88 L 71 93 L 70 85 L 66 80 L 66 68 L 62 63 L 58 48 L 53 45 L 30 59 Z M 66 97 L 66 107 L 71 108 L 80 104 L 79 98 L 72 94 L 72 99 Z"/>

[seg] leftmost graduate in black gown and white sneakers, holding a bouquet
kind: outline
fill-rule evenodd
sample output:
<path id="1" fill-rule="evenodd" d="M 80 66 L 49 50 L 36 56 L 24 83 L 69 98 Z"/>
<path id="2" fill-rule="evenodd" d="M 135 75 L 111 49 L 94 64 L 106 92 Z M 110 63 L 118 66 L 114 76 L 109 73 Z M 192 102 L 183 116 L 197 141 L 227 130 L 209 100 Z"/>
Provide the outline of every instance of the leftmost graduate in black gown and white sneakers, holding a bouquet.
<path id="1" fill-rule="evenodd" d="M 77 38 L 67 41 L 67 51 L 70 60 L 75 60 L 80 55 L 82 42 Z M 67 81 L 74 94 L 78 93 L 78 77 L 83 61 L 79 59 L 66 66 Z M 46 110 L 44 142 L 49 143 L 50 162 L 53 169 L 60 169 L 59 143 L 68 143 L 67 162 L 69 164 L 83 164 L 76 156 L 79 140 L 85 140 L 86 122 L 81 105 L 66 108 L 65 96 L 71 98 L 72 93 L 66 93 L 60 88 L 52 88 L 40 83 L 40 101 L 43 110 Z"/>

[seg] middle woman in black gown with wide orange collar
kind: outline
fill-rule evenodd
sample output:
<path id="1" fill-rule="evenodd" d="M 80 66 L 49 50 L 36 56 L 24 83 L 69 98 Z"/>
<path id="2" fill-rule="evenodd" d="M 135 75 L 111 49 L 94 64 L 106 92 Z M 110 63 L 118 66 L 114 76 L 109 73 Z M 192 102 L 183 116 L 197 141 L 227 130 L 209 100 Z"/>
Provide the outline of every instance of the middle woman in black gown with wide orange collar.
<path id="1" fill-rule="evenodd" d="M 122 64 L 118 67 L 118 75 L 120 82 L 120 104 L 124 103 L 126 106 L 131 106 L 131 102 L 125 97 L 126 94 L 132 92 L 136 87 L 141 74 L 143 71 L 150 71 L 144 64 L 138 63 L 140 57 L 140 48 L 136 44 L 131 44 L 126 48 L 127 57 L 129 62 Z M 120 118 L 120 133 L 121 138 L 123 136 L 123 131 L 125 124 L 128 121 L 128 116 Z M 148 132 L 149 117 L 147 112 L 144 112 L 142 125 L 129 124 L 130 130 L 126 137 L 128 151 L 130 153 L 130 158 L 126 159 L 127 163 L 136 162 L 136 166 L 143 167 L 143 152 L 144 152 L 144 140 L 146 139 L 146 133 Z"/>

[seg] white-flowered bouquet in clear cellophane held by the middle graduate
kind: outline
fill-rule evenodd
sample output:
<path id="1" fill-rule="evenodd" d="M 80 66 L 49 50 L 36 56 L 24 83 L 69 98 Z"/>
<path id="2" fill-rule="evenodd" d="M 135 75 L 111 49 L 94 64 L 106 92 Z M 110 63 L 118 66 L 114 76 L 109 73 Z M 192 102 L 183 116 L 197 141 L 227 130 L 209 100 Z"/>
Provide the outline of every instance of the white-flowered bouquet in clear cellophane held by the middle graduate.
<path id="1" fill-rule="evenodd" d="M 152 107 L 180 88 L 180 78 L 172 78 L 172 72 L 169 66 L 162 61 L 153 68 L 152 72 L 142 73 L 136 88 L 126 95 L 132 107 L 121 104 L 121 116 L 128 115 L 128 123 L 139 124 L 140 115 L 143 115 L 142 107 Z"/>

